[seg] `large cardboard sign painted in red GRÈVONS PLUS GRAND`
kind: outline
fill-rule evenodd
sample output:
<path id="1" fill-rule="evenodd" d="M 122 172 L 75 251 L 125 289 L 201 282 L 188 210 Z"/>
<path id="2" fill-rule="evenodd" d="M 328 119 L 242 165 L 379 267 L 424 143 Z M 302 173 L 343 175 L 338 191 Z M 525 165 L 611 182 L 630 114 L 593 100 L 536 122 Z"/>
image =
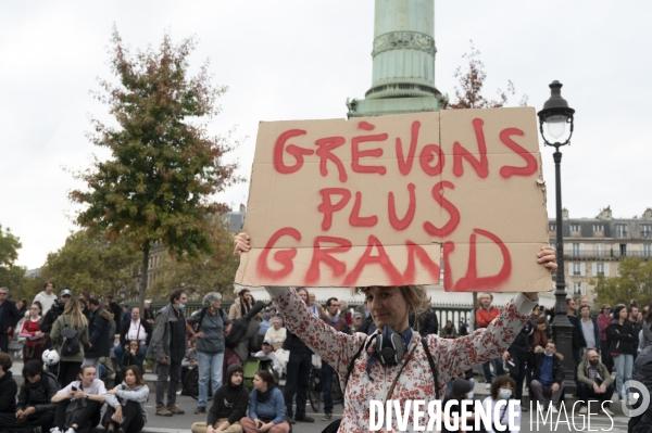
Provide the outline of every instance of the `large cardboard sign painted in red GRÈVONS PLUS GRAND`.
<path id="1" fill-rule="evenodd" d="M 548 291 L 541 173 L 529 107 L 261 123 L 236 282 Z"/>

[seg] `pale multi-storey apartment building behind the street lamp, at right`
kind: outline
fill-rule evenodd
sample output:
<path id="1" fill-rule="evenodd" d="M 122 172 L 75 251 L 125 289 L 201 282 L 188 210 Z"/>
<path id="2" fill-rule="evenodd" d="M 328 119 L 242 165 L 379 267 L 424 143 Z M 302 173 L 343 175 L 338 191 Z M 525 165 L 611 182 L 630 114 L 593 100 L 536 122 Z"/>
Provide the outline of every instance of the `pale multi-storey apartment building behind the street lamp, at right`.
<path id="1" fill-rule="evenodd" d="M 556 243 L 557 227 L 555 218 L 550 219 L 551 245 Z M 564 209 L 562 233 L 566 290 L 574 296 L 588 296 L 591 303 L 598 276 L 617 276 L 626 257 L 652 258 L 652 208 L 634 218 L 614 218 L 609 206 L 595 218 L 569 218 Z"/>

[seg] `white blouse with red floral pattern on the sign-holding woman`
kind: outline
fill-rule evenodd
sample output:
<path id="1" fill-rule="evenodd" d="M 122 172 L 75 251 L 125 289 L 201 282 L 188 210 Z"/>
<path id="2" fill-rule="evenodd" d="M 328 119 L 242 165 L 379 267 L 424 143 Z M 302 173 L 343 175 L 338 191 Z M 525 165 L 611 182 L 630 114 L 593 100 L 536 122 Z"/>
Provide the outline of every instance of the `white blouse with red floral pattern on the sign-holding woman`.
<path id="1" fill-rule="evenodd" d="M 340 384 L 343 386 L 349 362 L 361 345 L 366 345 L 371 335 L 367 336 L 360 332 L 347 335 L 337 332 L 333 327 L 316 318 L 292 288 L 266 288 L 266 290 L 283 311 L 290 332 L 299 336 L 305 345 L 337 371 Z M 441 339 L 435 334 L 426 336 L 427 346 L 437 368 L 439 395 L 443 395 L 446 384 L 453 374 L 500 357 L 528 320 L 535 305 L 536 302 L 530 302 L 525 295 L 518 293 L 488 328 L 478 329 L 471 335 L 455 340 Z M 421 339 L 418 332 L 413 333 L 408 352 L 412 352 L 414 345 L 417 347 L 399 377 L 391 399 L 400 400 L 401 408 L 405 407 L 405 402 L 409 399 L 425 400 L 426 419 L 421 419 L 418 424 L 427 426 L 427 406 L 429 402 L 436 399 L 435 380 Z M 367 361 L 374 351 L 374 344 L 369 345 L 366 351 L 362 351 L 355 361 L 346 389 L 344 415 L 339 432 L 369 431 L 369 400 L 385 402 L 391 383 L 401 368 L 402 362 L 396 366 L 383 366 L 376 361 L 371 368 L 371 374 L 367 374 Z M 404 359 L 408 356 L 406 353 Z M 369 375 L 374 380 L 371 380 Z M 409 417 L 408 431 L 414 431 L 413 410 L 411 409 L 405 415 Z M 391 430 L 387 430 L 385 426 L 383 431 L 400 431 L 396 416 Z"/>

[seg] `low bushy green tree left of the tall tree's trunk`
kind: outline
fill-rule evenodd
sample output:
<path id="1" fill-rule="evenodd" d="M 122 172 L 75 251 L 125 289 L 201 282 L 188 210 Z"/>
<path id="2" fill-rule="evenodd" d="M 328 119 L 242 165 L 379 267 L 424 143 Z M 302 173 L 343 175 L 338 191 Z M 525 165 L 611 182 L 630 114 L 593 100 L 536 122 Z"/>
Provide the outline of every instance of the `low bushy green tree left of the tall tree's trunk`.
<path id="1" fill-rule="evenodd" d="M 105 296 L 124 288 L 127 294 L 136 295 L 140 254 L 124 238 L 109 242 L 101 233 L 80 230 L 67 237 L 59 251 L 48 254 L 39 278 L 75 293 L 89 291 L 93 296 Z"/>

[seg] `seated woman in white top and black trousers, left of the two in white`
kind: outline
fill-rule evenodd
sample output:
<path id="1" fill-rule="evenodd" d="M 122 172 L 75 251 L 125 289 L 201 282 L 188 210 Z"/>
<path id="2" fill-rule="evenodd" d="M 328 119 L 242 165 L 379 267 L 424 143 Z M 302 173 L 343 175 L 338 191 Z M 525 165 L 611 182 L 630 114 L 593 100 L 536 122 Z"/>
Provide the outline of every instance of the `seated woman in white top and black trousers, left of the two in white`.
<path id="1" fill-rule="evenodd" d="M 52 403 L 57 404 L 52 433 L 89 433 L 100 423 L 106 389 L 96 374 L 95 367 L 82 366 L 78 380 L 72 381 L 52 397 Z M 70 408 L 71 405 L 74 407 Z"/>

